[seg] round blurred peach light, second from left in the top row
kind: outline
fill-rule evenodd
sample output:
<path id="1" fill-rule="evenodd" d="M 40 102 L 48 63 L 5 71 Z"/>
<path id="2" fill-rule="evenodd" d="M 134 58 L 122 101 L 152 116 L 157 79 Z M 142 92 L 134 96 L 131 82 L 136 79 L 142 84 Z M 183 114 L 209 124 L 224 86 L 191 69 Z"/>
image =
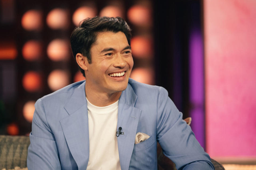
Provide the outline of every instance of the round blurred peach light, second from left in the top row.
<path id="1" fill-rule="evenodd" d="M 52 29 L 65 29 L 69 27 L 68 10 L 61 8 L 51 10 L 46 17 L 46 23 Z"/>

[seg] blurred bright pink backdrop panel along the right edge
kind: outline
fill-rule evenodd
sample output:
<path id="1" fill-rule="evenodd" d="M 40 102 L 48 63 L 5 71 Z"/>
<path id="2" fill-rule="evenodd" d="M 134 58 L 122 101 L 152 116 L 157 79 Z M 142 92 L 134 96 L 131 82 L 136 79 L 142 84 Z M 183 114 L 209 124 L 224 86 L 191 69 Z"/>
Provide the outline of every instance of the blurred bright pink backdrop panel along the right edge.
<path id="1" fill-rule="evenodd" d="M 256 1 L 205 0 L 206 150 L 256 158 Z"/>

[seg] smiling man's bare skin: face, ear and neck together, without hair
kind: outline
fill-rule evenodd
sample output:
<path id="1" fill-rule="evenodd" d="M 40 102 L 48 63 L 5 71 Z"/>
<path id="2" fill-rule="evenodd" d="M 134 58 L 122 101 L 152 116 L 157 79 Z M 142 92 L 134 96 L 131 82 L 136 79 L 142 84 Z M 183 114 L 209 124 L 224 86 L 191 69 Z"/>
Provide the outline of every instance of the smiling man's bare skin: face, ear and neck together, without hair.
<path id="1" fill-rule="evenodd" d="M 86 77 L 87 99 L 102 107 L 114 103 L 126 89 L 133 68 L 131 47 L 125 34 L 119 32 L 99 32 L 91 46 L 91 61 L 81 53 L 76 54 L 79 67 Z"/>

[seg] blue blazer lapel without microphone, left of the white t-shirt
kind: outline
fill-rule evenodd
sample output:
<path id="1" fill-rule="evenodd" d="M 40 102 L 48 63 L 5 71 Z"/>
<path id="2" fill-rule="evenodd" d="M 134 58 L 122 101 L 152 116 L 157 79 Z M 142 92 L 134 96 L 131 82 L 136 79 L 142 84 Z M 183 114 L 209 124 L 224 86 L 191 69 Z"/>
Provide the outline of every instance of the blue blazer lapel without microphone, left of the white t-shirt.
<path id="1" fill-rule="evenodd" d="M 64 108 L 69 116 L 60 123 L 67 145 L 78 169 L 86 169 L 89 160 L 89 126 L 85 82 L 74 90 Z"/>

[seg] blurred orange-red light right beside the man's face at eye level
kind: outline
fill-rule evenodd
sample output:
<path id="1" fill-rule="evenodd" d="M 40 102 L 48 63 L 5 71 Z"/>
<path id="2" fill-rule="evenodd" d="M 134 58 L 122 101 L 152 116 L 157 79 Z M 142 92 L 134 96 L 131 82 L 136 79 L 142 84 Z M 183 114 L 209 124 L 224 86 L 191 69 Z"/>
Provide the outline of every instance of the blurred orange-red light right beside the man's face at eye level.
<path id="1" fill-rule="evenodd" d="M 134 57 L 153 57 L 152 40 L 145 37 L 133 37 L 131 39 L 131 50 Z"/>

